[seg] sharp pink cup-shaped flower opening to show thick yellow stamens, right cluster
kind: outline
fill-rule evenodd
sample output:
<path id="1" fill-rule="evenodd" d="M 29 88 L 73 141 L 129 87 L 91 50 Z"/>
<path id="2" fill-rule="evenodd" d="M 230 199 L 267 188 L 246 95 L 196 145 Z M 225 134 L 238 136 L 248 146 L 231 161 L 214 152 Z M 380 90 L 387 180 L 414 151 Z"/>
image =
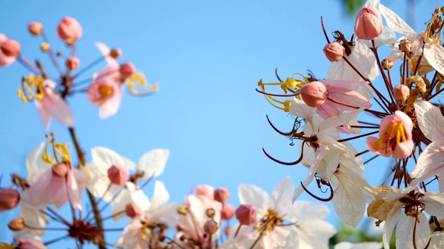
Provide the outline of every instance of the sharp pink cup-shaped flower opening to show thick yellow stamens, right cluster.
<path id="1" fill-rule="evenodd" d="M 382 119 L 379 125 L 379 138 L 367 138 L 367 149 L 385 157 L 406 158 L 413 149 L 412 129 L 413 122 L 409 116 L 402 111 L 395 111 L 394 114 Z"/>

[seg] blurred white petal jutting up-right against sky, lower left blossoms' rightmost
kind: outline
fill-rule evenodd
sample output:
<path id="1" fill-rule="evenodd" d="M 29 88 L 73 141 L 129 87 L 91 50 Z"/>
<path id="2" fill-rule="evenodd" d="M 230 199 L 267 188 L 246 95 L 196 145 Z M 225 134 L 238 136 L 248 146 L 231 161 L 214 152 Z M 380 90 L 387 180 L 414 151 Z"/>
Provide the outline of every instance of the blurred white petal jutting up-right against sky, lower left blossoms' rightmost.
<path id="1" fill-rule="evenodd" d="M 153 149 L 146 152 L 137 163 L 137 169 L 144 172 L 144 178 L 159 176 L 164 172 L 169 156 L 168 149 Z"/>

